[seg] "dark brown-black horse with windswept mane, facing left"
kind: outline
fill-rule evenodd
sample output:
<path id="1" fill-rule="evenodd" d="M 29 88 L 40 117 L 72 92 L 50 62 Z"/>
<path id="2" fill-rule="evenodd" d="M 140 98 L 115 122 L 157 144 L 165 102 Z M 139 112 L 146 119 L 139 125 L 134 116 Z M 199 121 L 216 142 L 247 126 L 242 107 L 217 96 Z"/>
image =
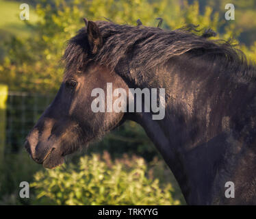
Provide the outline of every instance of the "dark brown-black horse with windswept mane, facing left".
<path id="1" fill-rule="evenodd" d="M 27 136 L 27 151 L 53 168 L 133 120 L 164 157 L 188 204 L 255 204 L 256 68 L 230 42 L 209 36 L 209 30 L 199 36 L 86 21 L 68 42 L 62 85 Z M 107 82 L 127 92 L 165 88 L 164 119 L 153 120 L 151 111 L 92 112 L 92 90 L 106 91 Z M 234 197 L 225 195 L 229 181 Z"/>

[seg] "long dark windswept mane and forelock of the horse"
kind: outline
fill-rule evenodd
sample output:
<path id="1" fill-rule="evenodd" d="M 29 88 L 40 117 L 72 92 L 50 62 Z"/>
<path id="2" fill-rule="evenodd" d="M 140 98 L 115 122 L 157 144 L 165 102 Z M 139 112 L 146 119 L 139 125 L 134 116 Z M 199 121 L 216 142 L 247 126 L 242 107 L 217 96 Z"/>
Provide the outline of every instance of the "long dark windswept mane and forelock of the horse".
<path id="1" fill-rule="evenodd" d="M 90 56 L 86 28 L 81 28 L 69 40 L 64 53 L 66 70 L 73 70 L 90 60 L 114 69 L 126 57 L 131 69 L 146 72 L 172 57 L 189 53 L 192 56 L 201 55 L 212 62 L 220 60 L 222 66 L 233 73 L 238 72 L 239 77 L 255 77 L 254 64 L 248 64 L 246 56 L 235 48 L 232 40 L 209 40 L 210 36 L 214 36 L 212 29 L 206 29 L 199 35 L 194 26 L 170 31 L 158 27 L 118 25 L 107 21 L 96 23 L 103 36 L 103 47 L 96 55 Z"/>

